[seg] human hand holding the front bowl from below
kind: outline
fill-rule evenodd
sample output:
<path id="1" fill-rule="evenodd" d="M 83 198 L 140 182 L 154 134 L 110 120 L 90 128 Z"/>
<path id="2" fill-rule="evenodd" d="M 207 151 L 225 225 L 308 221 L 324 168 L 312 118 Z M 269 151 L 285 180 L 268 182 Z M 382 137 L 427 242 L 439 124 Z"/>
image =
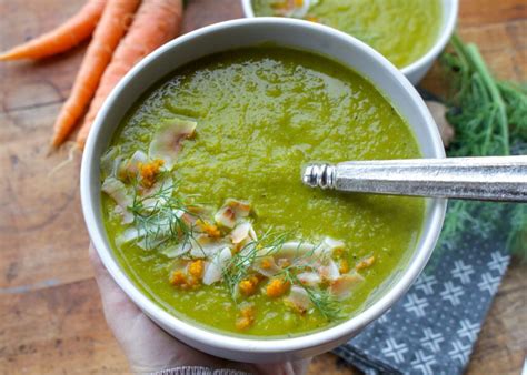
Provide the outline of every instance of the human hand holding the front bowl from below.
<path id="1" fill-rule="evenodd" d="M 255 374 L 305 374 L 309 359 L 275 364 L 247 364 L 229 362 L 180 343 L 159 328 L 122 292 L 102 264 L 99 254 L 90 245 L 97 285 L 108 326 L 119 342 L 135 373 L 157 372 L 179 366 L 231 368 Z"/>

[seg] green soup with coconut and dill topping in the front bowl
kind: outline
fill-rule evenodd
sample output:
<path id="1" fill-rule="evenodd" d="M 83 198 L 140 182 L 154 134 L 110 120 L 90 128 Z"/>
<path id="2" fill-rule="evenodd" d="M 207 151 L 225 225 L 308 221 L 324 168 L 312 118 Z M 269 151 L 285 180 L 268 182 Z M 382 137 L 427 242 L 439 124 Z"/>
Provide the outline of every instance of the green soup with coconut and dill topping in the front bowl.
<path id="1" fill-rule="evenodd" d="M 179 132 L 173 149 L 167 129 Z M 167 150 L 177 156 L 156 159 Z M 301 165 L 419 156 L 407 122 L 339 63 L 279 48 L 215 54 L 122 121 L 102 158 L 105 224 L 129 276 L 173 315 L 239 335 L 306 334 L 356 315 L 406 264 L 425 201 L 312 190 Z"/>

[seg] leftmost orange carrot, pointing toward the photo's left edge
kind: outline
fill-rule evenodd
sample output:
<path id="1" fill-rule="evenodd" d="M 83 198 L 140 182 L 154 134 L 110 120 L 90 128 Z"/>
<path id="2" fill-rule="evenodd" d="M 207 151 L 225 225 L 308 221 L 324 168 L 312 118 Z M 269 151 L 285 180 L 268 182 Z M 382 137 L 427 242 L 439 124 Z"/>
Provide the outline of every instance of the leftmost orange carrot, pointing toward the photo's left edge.
<path id="1" fill-rule="evenodd" d="M 107 0 L 89 0 L 73 17 L 27 43 L 1 53 L 1 60 L 42 59 L 68 51 L 89 38 L 101 18 Z"/>

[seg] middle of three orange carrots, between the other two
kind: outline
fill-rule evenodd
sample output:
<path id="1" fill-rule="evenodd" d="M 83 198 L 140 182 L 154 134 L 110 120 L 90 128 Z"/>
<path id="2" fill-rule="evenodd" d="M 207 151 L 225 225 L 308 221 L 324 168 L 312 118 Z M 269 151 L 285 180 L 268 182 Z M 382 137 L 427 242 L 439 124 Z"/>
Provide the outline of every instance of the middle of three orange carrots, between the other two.
<path id="1" fill-rule="evenodd" d="M 51 140 L 53 146 L 60 145 L 66 140 L 82 115 L 138 4 L 139 0 L 108 0 L 77 73 L 70 97 L 54 123 Z"/>

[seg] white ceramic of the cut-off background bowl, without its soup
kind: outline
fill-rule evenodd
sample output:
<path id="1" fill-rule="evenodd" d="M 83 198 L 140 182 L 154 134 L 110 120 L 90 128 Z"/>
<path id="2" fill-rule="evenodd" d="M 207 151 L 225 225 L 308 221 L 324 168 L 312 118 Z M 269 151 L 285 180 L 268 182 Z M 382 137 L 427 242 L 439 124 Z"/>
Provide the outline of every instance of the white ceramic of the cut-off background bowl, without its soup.
<path id="1" fill-rule="evenodd" d="M 445 49 L 445 45 L 447 45 L 448 40 L 450 39 L 454 29 L 456 28 L 459 1 L 441 0 L 441 4 L 443 22 L 435 44 L 428 50 L 426 54 L 420 57 L 418 60 L 414 61 L 407 67 L 401 68 L 402 74 L 405 74 L 412 84 L 419 83 L 419 81 L 430 70 L 434 61 Z M 241 0 L 241 7 L 243 8 L 243 14 L 246 17 L 256 17 L 255 11 L 252 10 L 252 0 Z"/>

